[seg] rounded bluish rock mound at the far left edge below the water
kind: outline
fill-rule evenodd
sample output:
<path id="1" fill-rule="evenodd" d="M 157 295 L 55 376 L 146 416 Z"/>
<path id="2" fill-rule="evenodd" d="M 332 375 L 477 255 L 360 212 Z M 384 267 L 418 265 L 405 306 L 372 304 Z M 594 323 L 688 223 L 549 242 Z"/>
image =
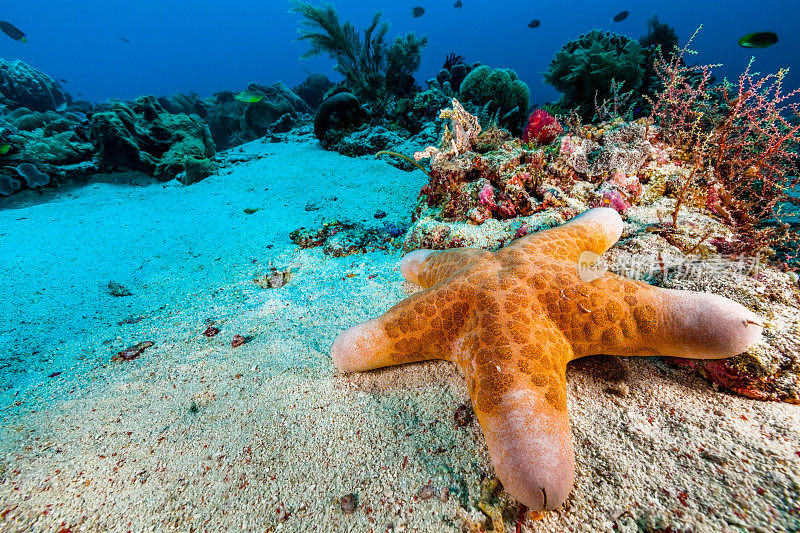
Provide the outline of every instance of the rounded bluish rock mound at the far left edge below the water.
<path id="1" fill-rule="evenodd" d="M 9 109 L 63 110 L 67 94 L 53 78 L 24 61 L 0 58 L 0 103 Z"/>

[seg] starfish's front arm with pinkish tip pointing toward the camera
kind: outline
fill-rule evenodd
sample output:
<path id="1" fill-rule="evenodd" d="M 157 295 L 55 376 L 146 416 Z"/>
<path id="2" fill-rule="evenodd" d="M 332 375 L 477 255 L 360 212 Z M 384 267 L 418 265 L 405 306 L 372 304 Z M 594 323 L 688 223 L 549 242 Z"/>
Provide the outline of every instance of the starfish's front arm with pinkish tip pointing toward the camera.
<path id="1" fill-rule="evenodd" d="M 487 346 L 462 368 L 497 477 L 517 501 L 545 510 L 567 499 L 575 476 L 565 376 L 571 349 L 554 326 L 533 329 L 527 347 Z"/>

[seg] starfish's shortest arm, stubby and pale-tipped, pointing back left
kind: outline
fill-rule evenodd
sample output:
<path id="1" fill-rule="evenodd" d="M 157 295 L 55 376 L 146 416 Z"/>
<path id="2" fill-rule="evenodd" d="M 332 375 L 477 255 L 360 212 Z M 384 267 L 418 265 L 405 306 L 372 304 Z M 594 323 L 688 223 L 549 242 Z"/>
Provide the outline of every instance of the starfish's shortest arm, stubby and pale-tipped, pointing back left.
<path id="1" fill-rule="evenodd" d="M 400 261 L 400 272 L 407 281 L 428 288 L 446 280 L 465 266 L 490 257 L 492 252 L 479 248 L 414 250 Z"/>

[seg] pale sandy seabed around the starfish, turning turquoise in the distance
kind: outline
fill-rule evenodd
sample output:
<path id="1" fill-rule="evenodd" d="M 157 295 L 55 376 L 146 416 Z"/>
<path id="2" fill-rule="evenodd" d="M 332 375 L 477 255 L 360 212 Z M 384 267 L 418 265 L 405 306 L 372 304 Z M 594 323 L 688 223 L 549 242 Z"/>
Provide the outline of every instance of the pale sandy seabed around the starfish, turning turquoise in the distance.
<path id="1" fill-rule="evenodd" d="M 425 176 L 311 142 L 223 159 L 190 187 L 92 183 L 0 210 L 0 530 L 480 530 L 493 469 L 477 423 L 454 423 L 459 371 L 330 361 L 338 332 L 415 290 L 400 252 L 289 240 L 378 210 L 407 224 Z M 253 283 L 270 265 L 286 286 Z M 800 531 L 800 405 L 647 358 L 567 377 L 575 487 L 523 531 Z M 518 506 L 489 503 L 513 531 Z"/>

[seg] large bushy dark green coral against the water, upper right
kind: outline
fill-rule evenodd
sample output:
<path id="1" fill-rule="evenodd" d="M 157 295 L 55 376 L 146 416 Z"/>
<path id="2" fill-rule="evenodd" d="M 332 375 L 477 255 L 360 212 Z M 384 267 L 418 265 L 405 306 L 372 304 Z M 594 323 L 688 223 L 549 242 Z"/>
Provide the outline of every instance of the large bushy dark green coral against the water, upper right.
<path id="1" fill-rule="evenodd" d="M 556 53 L 544 80 L 561 92 L 560 106 L 591 120 L 595 102 L 612 97 L 612 81 L 625 92 L 642 87 L 646 61 L 645 50 L 635 39 L 592 30 Z"/>

